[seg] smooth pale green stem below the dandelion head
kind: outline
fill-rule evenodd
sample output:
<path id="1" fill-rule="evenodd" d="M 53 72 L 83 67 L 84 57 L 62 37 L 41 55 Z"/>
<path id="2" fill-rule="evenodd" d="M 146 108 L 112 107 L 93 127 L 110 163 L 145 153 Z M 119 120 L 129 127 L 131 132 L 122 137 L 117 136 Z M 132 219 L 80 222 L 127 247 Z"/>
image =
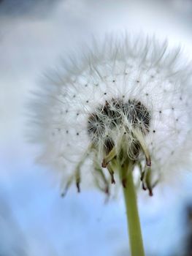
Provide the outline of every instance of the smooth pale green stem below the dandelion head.
<path id="1" fill-rule="evenodd" d="M 126 167 L 126 169 L 125 169 Z M 129 245 L 131 256 L 145 256 L 142 230 L 139 222 L 139 212 L 137 208 L 137 195 L 133 181 L 133 165 L 125 166 L 122 168 L 121 178 L 126 174 L 126 186 L 123 187 L 123 193 L 126 203 L 126 216 L 128 222 Z M 127 170 L 128 167 L 128 170 Z"/>

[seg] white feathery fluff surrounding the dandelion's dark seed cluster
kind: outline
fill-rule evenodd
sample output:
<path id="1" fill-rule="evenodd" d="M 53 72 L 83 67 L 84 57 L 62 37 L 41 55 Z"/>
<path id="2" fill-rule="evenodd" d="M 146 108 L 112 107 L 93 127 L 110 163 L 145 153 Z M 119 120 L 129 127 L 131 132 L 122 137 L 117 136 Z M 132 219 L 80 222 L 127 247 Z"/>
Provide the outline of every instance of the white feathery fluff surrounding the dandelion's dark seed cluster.
<path id="1" fill-rule="evenodd" d="M 191 65 L 185 62 L 166 42 L 110 37 L 63 63 L 32 100 L 31 137 L 42 145 L 41 162 L 68 181 L 91 143 L 88 116 L 112 98 L 137 99 L 151 113 L 145 143 L 153 173 L 178 170 L 191 151 Z M 92 158 L 81 167 L 82 181 L 93 172 Z M 100 152 L 97 161 L 101 165 Z"/>

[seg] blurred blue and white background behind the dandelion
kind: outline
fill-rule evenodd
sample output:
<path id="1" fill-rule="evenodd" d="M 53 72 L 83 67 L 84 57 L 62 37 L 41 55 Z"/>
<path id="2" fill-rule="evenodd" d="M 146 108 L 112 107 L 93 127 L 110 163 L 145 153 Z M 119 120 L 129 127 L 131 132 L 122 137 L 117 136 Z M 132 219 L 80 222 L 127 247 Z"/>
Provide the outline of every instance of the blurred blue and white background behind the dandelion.
<path id="1" fill-rule="evenodd" d="M 26 102 L 45 70 L 93 36 L 155 34 L 192 57 L 191 24 L 191 0 L 0 1 L 1 256 L 128 256 L 121 195 L 104 203 L 94 188 L 72 188 L 61 197 L 26 143 Z M 147 256 L 192 255 L 192 174 L 172 175 L 177 184 L 139 194 Z"/>

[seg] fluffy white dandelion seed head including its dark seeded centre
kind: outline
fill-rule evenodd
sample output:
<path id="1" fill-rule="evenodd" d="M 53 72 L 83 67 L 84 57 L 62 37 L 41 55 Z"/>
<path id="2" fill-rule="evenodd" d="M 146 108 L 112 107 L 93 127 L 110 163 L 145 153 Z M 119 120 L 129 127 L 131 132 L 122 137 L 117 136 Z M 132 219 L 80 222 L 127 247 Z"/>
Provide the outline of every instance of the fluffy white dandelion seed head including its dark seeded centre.
<path id="1" fill-rule="evenodd" d="M 50 76 L 33 102 L 32 137 L 42 146 L 40 161 L 62 173 L 64 192 L 73 181 L 80 191 L 91 173 L 108 194 L 120 176 L 128 197 L 128 176 L 139 170 L 153 195 L 162 177 L 189 161 L 191 65 L 185 62 L 166 42 L 108 38 Z M 131 253 L 144 255 L 133 244 Z"/>

